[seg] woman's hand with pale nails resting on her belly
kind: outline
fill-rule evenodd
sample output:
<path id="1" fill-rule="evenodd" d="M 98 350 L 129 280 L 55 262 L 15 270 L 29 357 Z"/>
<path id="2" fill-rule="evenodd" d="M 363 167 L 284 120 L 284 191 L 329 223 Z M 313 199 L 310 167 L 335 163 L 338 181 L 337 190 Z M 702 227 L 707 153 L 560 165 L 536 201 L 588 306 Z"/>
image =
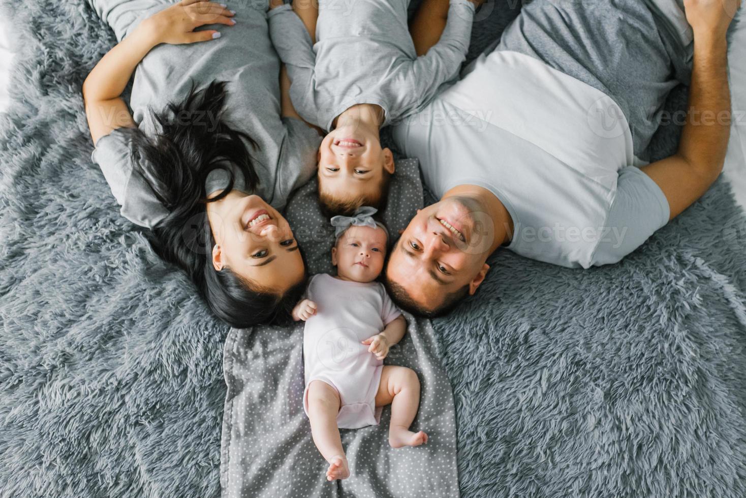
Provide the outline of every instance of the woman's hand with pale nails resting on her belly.
<path id="1" fill-rule="evenodd" d="M 171 7 L 160 10 L 145 19 L 140 26 L 154 45 L 169 43 L 205 42 L 220 37 L 216 30 L 194 31 L 195 28 L 210 24 L 232 26 L 235 13 L 225 8 L 225 4 L 204 0 L 182 0 Z M 140 28 L 139 27 L 139 28 Z"/>

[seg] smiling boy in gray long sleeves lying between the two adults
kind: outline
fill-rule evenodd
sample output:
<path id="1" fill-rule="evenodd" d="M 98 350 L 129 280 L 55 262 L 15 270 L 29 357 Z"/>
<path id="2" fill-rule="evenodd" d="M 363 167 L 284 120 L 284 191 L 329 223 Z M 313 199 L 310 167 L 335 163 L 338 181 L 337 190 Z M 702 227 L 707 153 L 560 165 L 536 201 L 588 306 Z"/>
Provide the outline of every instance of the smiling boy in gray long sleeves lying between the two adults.
<path id="1" fill-rule="evenodd" d="M 474 4 L 437 0 L 450 1 L 445 31 L 418 57 L 407 28 L 409 0 L 319 0 L 318 10 L 315 1 L 294 0 L 294 11 L 271 0 L 269 30 L 293 107 L 329 132 L 318 154 L 322 207 L 348 215 L 383 205 L 394 160 L 381 148 L 379 130 L 416 113 L 457 77 Z"/>

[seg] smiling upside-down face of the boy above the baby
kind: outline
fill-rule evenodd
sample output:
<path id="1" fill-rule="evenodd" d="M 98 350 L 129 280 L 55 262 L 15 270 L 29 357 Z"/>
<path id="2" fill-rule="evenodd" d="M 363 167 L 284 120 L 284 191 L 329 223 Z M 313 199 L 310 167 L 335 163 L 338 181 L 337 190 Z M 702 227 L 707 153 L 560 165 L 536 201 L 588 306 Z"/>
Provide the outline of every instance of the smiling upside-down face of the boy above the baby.
<path id="1" fill-rule="evenodd" d="M 319 188 L 334 199 L 378 198 L 383 170 L 394 172 L 391 150 L 360 127 L 336 128 L 319 147 Z"/>

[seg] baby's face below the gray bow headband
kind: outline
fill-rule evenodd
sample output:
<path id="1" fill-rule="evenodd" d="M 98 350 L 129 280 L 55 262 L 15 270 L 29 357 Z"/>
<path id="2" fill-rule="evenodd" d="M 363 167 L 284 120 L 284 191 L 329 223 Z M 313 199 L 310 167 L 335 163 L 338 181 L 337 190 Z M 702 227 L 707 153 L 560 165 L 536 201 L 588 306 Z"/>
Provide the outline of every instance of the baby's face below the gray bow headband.
<path id="1" fill-rule="evenodd" d="M 336 247 L 331 250 L 331 262 L 336 274 L 343 280 L 372 282 L 381 270 L 386 257 L 386 232 L 380 227 L 356 227 L 347 229 Z"/>

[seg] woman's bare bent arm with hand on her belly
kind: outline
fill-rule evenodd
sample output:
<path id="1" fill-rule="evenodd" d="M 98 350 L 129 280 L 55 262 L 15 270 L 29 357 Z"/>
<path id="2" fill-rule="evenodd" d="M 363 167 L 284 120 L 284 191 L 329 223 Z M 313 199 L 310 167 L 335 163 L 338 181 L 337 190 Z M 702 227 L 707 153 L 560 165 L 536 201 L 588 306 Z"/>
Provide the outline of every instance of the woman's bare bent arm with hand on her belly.
<path id="1" fill-rule="evenodd" d="M 112 48 L 90 72 L 83 83 L 83 100 L 93 143 L 121 127 L 134 127 L 122 92 L 145 54 L 160 43 L 193 43 L 213 40 L 218 31 L 194 31 L 202 25 L 232 26 L 233 13 L 210 1 L 184 0 L 174 4 L 137 26 Z"/>

